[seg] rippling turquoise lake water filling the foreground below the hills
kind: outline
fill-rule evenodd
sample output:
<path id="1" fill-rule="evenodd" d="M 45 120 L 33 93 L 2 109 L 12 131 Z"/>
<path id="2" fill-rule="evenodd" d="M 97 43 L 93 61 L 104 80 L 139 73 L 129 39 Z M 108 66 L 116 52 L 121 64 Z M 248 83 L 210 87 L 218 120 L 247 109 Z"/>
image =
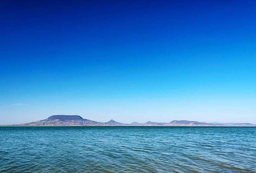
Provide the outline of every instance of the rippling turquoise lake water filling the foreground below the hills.
<path id="1" fill-rule="evenodd" d="M 0 127 L 0 172 L 256 172 L 254 127 Z"/>

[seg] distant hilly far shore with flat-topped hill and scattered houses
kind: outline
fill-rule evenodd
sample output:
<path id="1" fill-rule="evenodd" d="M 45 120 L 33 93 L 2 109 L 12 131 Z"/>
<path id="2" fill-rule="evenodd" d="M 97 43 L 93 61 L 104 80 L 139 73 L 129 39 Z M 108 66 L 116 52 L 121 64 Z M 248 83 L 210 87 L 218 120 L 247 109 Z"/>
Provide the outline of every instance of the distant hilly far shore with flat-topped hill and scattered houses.
<path id="1" fill-rule="evenodd" d="M 197 122 L 197 121 L 171 121 L 171 122 L 132 122 L 125 124 L 110 120 L 108 122 L 96 122 L 87 120 L 79 115 L 52 115 L 44 120 L 36 122 L 28 122 L 24 124 L 14 124 L 12 126 L 204 126 L 204 127 L 256 127 L 256 124 L 251 123 L 219 123 L 219 122 Z"/>

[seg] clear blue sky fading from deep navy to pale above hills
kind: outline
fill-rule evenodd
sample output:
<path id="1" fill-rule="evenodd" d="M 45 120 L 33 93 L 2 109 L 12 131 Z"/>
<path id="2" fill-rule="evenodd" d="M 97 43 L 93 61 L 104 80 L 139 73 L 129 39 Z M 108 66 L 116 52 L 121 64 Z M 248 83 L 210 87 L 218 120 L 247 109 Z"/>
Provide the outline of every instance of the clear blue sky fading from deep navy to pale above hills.
<path id="1" fill-rule="evenodd" d="M 256 1 L 0 1 L 0 124 L 256 124 Z"/>

